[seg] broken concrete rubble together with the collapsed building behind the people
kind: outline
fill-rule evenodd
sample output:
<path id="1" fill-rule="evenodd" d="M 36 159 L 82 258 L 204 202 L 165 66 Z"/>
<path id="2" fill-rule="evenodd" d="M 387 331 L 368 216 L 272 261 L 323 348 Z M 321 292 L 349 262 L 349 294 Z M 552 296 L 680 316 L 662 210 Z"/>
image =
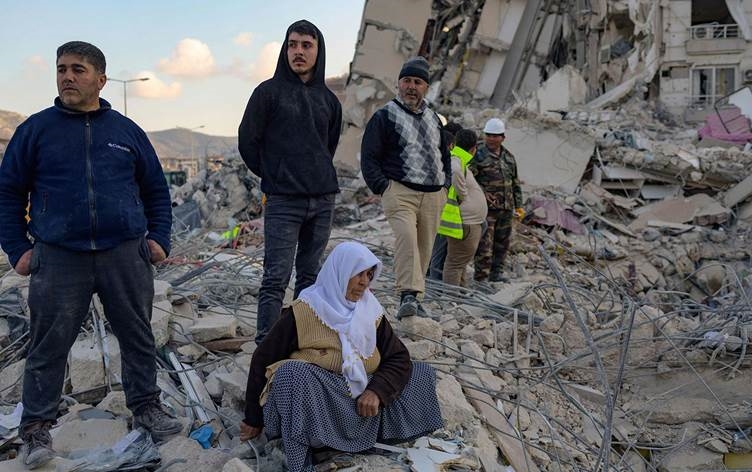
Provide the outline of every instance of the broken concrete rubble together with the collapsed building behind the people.
<path id="1" fill-rule="evenodd" d="M 414 443 L 334 458 L 326 470 L 752 465 L 742 424 L 752 408 L 752 152 L 699 140 L 697 110 L 684 109 L 680 86 L 689 87 L 698 48 L 710 47 L 698 28 L 717 27 L 693 22 L 688 37 L 677 25 L 690 3 L 366 1 L 344 91 L 330 246 L 356 239 L 384 261 L 372 288 L 413 359 L 438 371 L 445 425 Z M 685 42 L 689 52 L 677 52 Z M 448 120 L 479 130 L 505 119 L 528 216 L 515 224 L 510 282 L 429 281 L 431 318 L 398 322 L 393 236 L 358 161 L 368 118 L 394 97 L 400 66 L 416 54 L 433 65 L 428 97 Z M 742 55 L 741 64 L 752 61 Z M 162 466 L 284 470 L 280 440 L 254 441 L 259 458 L 237 429 L 263 267 L 258 179 L 231 155 L 172 194 L 177 231 L 155 273 L 152 329 L 163 403 L 187 427 L 160 446 Z M 10 414 L 21 393 L 28 280 L 0 260 L 3 273 L 0 414 Z M 131 421 L 116 340 L 96 325 L 87 321 L 70 358 L 54 433 L 71 445 L 61 451 L 115 442 Z M 200 386 L 198 398 L 187 384 Z M 81 418 L 94 405 L 112 418 Z M 208 449 L 186 437 L 204 424 Z M 17 468 L 19 444 L 13 430 L 3 436 L 7 470 Z"/>

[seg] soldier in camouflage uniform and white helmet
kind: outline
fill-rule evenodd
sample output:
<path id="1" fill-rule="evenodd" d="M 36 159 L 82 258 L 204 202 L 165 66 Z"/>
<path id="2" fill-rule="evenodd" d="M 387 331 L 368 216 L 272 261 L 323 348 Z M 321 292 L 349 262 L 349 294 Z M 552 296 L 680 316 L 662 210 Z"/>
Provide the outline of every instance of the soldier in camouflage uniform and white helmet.
<path id="1" fill-rule="evenodd" d="M 505 131 L 500 119 L 488 120 L 483 128 L 485 142 L 478 146 L 475 158 L 470 162 L 470 169 L 483 188 L 488 203 L 488 229 L 475 253 L 475 280 L 478 281 L 506 279 L 502 273 L 512 235 L 512 221 L 525 214 L 517 163 L 512 153 L 501 145 Z"/>

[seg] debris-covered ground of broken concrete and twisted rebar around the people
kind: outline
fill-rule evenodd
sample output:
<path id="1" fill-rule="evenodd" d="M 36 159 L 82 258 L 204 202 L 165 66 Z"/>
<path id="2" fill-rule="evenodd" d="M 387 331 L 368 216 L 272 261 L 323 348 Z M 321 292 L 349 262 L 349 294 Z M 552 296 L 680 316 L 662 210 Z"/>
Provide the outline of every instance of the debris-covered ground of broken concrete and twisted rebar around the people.
<path id="1" fill-rule="evenodd" d="M 487 114 L 473 119 L 481 123 Z M 593 153 L 571 193 L 526 192 L 529 216 L 515 226 L 510 282 L 470 289 L 429 282 L 431 318 L 393 319 L 391 230 L 378 199 L 342 170 L 330 246 L 357 239 L 384 260 L 374 290 L 413 358 L 438 370 L 445 428 L 319 467 L 679 471 L 748 460 L 742 420 L 750 413 L 752 277 L 750 226 L 740 213 L 750 192 L 736 186 L 752 154 L 697 148 L 691 133 L 666 128 L 644 104 L 627 103 L 607 123 L 520 109 L 507 118 L 592 136 Z M 620 173 L 609 178 L 604 169 Z M 641 192 L 648 174 L 663 176 L 655 189 L 677 188 L 648 198 Z M 621 187 L 609 187 L 614 182 Z M 160 387 L 186 424 L 185 434 L 157 448 L 162 470 L 184 470 L 182 460 L 194 470 L 284 470 L 279 440 L 254 442 L 257 459 L 237 439 L 262 269 L 257 192 L 257 181 L 232 160 L 174 189 L 176 201 L 196 203 L 200 221 L 215 230 L 176 231 L 174 250 L 155 274 Z M 237 233 L 222 234 L 234 225 Z M 12 459 L 28 279 L 8 271 L 1 282 L 7 415 L 0 426 L 3 457 Z M 106 323 L 102 329 L 97 303 L 92 315 L 71 352 L 63 416 L 53 430 L 56 450 L 68 459 L 48 470 L 114 470 L 76 464 L 104 463 L 107 454 L 97 448 L 128 432 L 117 342 Z M 211 447 L 187 437 L 191 431 Z M 75 451 L 89 459 L 74 459 Z M 153 447 L 137 452 L 134 460 L 144 463 L 157 456 Z"/>

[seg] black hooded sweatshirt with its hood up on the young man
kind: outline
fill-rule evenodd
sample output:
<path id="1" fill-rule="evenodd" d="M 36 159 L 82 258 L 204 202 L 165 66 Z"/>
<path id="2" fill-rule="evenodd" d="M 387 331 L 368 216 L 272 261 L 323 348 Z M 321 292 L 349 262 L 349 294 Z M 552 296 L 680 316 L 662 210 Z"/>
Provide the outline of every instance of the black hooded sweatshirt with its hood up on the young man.
<path id="1" fill-rule="evenodd" d="M 339 191 L 332 161 L 342 107 L 324 83 L 324 36 L 309 24 L 318 33 L 313 77 L 304 83 L 290 68 L 288 28 L 274 77 L 253 91 L 238 129 L 240 156 L 261 177 L 261 191 L 268 195 L 318 196 Z"/>

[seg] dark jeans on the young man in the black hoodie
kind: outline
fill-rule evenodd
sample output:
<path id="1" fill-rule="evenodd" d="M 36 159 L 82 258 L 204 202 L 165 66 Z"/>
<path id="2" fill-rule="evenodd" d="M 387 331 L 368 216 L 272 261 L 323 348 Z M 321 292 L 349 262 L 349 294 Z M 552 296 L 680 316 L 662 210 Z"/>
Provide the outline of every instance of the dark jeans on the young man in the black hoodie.
<path id="1" fill-rule="evenodd" d="M 261 280 L 256 344 L 282 310 L 295 261 L 295 297 L 316 281 L 334 218 L 334 194 L 318 197 L 268 195 L 264 207 L 264 277 Z"/>

